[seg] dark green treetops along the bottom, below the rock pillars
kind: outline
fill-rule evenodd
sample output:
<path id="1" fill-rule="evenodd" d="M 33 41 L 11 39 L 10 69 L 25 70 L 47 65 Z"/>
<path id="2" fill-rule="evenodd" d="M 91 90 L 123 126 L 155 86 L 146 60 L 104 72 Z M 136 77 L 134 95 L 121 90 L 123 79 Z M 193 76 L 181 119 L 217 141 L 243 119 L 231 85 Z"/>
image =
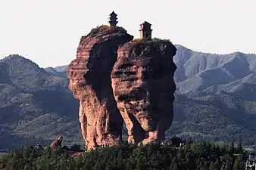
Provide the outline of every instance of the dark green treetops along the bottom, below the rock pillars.
<path id="1" fill-rule="evenodd" d="M 172 170 L 242 170 L 247 153 L 241 144 L 218 146 L 203 142 L 189 142 L 183 149 L 172 144 L 150 144 L 137 147 L 122 144 L 119 147 L 100 147 L 83 153 L 83 156 L 68 158 L 67 155 L 23 147 L 0 159 L 0 169 L 172 169 Z"/>

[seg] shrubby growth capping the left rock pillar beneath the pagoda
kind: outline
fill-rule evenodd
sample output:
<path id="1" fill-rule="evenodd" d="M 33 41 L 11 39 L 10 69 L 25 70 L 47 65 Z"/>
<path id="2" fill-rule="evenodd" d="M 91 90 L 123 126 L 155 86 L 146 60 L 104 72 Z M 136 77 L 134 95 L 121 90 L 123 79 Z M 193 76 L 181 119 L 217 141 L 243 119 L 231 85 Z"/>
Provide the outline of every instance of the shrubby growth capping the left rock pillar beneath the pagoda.
<path id="1" fill-rule="evenodd" d="M 87 36 L 97 36 L 99 32 L 104 34 L 127 33 L 126 29 L 120 26 L 101 25 L 93 28 Z"/>

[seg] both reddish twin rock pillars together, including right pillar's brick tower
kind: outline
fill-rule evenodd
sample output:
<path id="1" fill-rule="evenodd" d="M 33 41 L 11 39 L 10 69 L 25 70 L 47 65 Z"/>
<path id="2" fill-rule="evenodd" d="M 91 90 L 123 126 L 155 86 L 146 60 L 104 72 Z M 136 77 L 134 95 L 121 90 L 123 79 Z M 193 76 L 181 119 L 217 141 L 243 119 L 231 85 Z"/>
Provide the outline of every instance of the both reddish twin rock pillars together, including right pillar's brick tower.
<path id="1" fill-rule="evenodd" d="M 173 121 L 175 46 L 148 22 L 136 40 L 113 24 L 83 36 L 67 70 L 87 150 L 120 144 L 123 120 L 133 144 L 163 141 Z"/>

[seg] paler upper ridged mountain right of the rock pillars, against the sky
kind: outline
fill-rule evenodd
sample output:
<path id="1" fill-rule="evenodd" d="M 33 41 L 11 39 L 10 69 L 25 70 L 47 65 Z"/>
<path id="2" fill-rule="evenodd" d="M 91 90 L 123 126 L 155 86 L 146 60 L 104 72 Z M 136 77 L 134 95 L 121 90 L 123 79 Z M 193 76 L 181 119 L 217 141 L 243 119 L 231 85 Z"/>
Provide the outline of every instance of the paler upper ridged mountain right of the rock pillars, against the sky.
<path id="1" fill-rule="evenodd" d="M 178 67 L 175 73 L 177 94 L 203 91 L 214 85 L 226 85 L 256 72 L 255 54 L 204 54 L 181 45 L 176 45 L 176 48 L 174 62 Z"/>

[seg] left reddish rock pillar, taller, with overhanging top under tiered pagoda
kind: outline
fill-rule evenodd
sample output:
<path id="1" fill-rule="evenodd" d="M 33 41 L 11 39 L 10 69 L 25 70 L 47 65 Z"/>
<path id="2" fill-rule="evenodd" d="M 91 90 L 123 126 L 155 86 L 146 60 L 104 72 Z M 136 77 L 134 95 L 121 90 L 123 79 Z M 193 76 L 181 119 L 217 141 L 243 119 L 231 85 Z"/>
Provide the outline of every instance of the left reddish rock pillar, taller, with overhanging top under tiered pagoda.
<path id="1" fill-rule="evenodd" d="M 70 90 L 80 100 L 80 125 L 86 149 L 97 145 L 119 144 L 123 119 L 111 87 L 111 70 L 117 49 L 130 36 L 120 27 L 101 26 L 83 36 L 76 60 L 70 63 L 67 76 Z"/>

